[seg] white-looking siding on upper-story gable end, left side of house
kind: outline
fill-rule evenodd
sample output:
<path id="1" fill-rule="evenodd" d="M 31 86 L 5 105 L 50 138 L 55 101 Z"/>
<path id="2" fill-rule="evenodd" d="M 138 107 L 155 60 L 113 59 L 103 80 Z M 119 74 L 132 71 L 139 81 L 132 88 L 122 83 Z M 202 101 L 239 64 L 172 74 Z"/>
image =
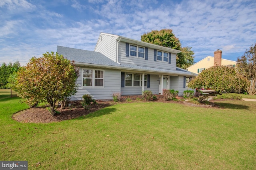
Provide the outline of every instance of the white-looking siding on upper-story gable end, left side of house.
<path id="1" fill-rule="evenodd" d="M 112 61 L 116 62 L 116 38 L 102 34 L 101 37 L 99 37 L 94 51 L 100 52 Z"/>

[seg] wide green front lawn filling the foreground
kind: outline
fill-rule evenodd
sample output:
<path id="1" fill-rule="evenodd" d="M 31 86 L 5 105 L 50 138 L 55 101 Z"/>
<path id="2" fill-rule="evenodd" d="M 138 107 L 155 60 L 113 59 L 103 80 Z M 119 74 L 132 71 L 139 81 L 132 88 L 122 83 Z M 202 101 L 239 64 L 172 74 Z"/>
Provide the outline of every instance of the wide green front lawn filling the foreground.
<path id="1" fill-rule="evenodd" d="M 0 100 L 0 160 L 27 160 L 28 169 L 256 169 L 256 102 L 126 103 L 36 124 L 12 120 L 28 108 L 19 100 Z"/>

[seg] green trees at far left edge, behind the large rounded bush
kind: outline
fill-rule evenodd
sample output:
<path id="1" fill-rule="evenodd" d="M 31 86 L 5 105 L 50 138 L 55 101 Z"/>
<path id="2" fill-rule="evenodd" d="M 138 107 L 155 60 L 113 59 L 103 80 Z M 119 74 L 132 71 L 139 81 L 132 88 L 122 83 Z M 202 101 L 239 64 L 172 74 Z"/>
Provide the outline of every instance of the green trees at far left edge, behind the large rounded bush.
<path id="1" fill-rule="evenodd" d="M 16 61 L 15 63 L 9 63 L 6 65 L 6 63 L 3 63 L 2 66 L 0 66 L 0 89 L 6 89 L 8 88 L 8 78 L 14 72 L 14 70 L 18 70 L 20 68 L 20 63 Z"/>

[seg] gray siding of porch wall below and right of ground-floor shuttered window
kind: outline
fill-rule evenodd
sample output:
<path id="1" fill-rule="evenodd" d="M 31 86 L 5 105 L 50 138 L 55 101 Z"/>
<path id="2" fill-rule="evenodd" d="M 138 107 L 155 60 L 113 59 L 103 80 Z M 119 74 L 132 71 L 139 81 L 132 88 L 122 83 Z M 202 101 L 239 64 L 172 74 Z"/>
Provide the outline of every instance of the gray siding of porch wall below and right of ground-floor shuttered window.
<path id="1" fill-rule="evenodd" d="M 150 88 L 144 87 L 144 90 L 150 90 L 153 94 L 158 94 L 158 75 L 150 74 Z M 121 95 L 141 95 L 142 87 L 122 87 Z"/>

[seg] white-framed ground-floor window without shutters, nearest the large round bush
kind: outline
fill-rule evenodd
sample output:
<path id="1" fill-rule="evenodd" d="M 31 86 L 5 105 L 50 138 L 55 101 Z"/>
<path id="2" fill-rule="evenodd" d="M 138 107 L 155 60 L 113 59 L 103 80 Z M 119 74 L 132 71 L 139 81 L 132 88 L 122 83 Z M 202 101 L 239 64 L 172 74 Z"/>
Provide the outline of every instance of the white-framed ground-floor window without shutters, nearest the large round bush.
<path id="1" fill-rule="evenodd" d="M 104 87 L 104 70 L 82 69 L 82 86 Z"/>

